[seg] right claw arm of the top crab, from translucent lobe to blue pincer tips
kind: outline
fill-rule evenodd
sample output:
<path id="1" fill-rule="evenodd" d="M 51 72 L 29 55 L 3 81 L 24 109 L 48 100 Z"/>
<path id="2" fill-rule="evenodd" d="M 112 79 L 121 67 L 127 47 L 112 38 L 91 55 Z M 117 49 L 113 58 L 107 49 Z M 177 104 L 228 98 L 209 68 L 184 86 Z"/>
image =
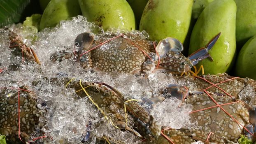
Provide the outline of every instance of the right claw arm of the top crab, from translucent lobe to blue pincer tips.
<path id="1" fill-rule="evenodd" d="M 211 58 L 208 51 L 212 49 L 219 36 L 214 36 L 209 43 L 192 53 L 188 58 L 183 56 L 180 52 L 183 51 L 183 45 L 178 39 L 167 37 L 161 40 L 156 46 L 156 52 L 158 52 L 159 68 L 154 70 L 154 72 L 188 72 L 191 70 L 193 65 L 196 65 L 200 60 L 205 58 Z M 154 60 L 159 59 L 155 56 Z M 212 59 L 212 58 L 211 58 Z"/>

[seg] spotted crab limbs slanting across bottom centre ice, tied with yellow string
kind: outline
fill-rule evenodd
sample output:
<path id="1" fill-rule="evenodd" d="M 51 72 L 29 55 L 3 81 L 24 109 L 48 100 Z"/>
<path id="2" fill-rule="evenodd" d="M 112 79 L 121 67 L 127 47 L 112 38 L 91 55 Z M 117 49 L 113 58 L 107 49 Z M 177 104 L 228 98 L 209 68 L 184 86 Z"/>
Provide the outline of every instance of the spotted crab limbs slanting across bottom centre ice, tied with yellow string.
<path id="1" fill-rule="evenodd" d="M 94 101 L 95 104 L 98 105 L 98 109 L 101 109 L 101 107 L 107 108 L 107 110 L 105 109 L 105 112 L 102 109 L 100 110 L 103 115 L 105 115 L 104 113 L 106 112 L 112 112 L 115 115 L 117 121 L 109 121 L 113 125 L 116 125 L 118 128 L 134 132 L 135 135 L 139 137 L 141 137 L 142 135 L 143 137 L 150 138 L 150 135 L 152 135 L 158 138 L 158 136 L 160 135 L 161 125 L 158 123 L 158 121 L 142 106 L 140 106 L 137 103 L 137 100 L 133 100 L 128 96 L 123 95 L 112 86 L 109 86 L 105 83 L 95 82 L 79 83 L 79 81 L 75 80 L 70 81 L 67 86 L 68 88 L 74 88 L 74 90 L 77 91 L 77 95 L 79 95 L 80 97 L 85 97 L 87 95 L 85 93 L 86 91 L 88 95 L 91 96 L 92 101 Z M 81 86 L 85 88 L 84 91 L 81 91 Z M 115 106 L 112 107 L 111 105 Z M 123 109 L 124 105 L 126 106 L 126 110 L 130 114 L 132 114 L 132 117 L 135 121 L 135 127 L 137 127 L 138 132 L 136 132 L 132 128 L 128 128 L 125 121 L 122 121 L 125 120 L 125 118 L 120 114 L 116 113 L 118 109 Z"/>

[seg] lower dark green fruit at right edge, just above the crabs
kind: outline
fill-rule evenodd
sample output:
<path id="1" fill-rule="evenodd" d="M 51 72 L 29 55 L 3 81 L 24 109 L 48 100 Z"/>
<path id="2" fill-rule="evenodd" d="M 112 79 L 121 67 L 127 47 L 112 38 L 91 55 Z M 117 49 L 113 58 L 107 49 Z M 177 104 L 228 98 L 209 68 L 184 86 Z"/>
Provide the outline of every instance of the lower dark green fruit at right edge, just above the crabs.
<path id="1" fill-rule="evenodd" d="M 239 77 L 256 80 L 256 36 L 249 39 L 240 50 L 235 72 Z"/>

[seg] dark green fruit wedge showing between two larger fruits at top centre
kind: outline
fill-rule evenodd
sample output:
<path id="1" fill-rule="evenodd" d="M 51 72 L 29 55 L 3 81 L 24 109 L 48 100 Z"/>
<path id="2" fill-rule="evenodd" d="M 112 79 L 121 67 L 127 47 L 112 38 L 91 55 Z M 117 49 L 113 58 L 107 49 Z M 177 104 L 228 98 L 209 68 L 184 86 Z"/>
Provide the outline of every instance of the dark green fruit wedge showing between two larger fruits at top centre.
<path id="1" fill-rule="evenodd" d="M 142 16 L 142 12 L 143 12 L 145 6 L 147 5 L 148 1 L 149 0 L 127 0 L 127 2 L 129 3 L 130 7 L 133 9 L 133 13 L 135 15 L 135 20 L 136 20 L 137 28 L 139 28 L 140 18 Z"/>

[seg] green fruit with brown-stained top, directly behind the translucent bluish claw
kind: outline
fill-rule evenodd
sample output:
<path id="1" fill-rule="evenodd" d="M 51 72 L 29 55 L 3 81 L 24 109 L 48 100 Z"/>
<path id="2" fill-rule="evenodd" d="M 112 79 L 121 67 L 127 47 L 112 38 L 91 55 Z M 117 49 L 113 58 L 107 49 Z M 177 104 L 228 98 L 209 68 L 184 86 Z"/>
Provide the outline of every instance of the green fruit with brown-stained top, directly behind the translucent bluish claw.
<path id="1" fill-rule="evenodd" d="M 149 0 L 140 20 L 140 30 L 151 40 L 175 37 L 180 42 L 189 30 L 193 0 Z"/>

